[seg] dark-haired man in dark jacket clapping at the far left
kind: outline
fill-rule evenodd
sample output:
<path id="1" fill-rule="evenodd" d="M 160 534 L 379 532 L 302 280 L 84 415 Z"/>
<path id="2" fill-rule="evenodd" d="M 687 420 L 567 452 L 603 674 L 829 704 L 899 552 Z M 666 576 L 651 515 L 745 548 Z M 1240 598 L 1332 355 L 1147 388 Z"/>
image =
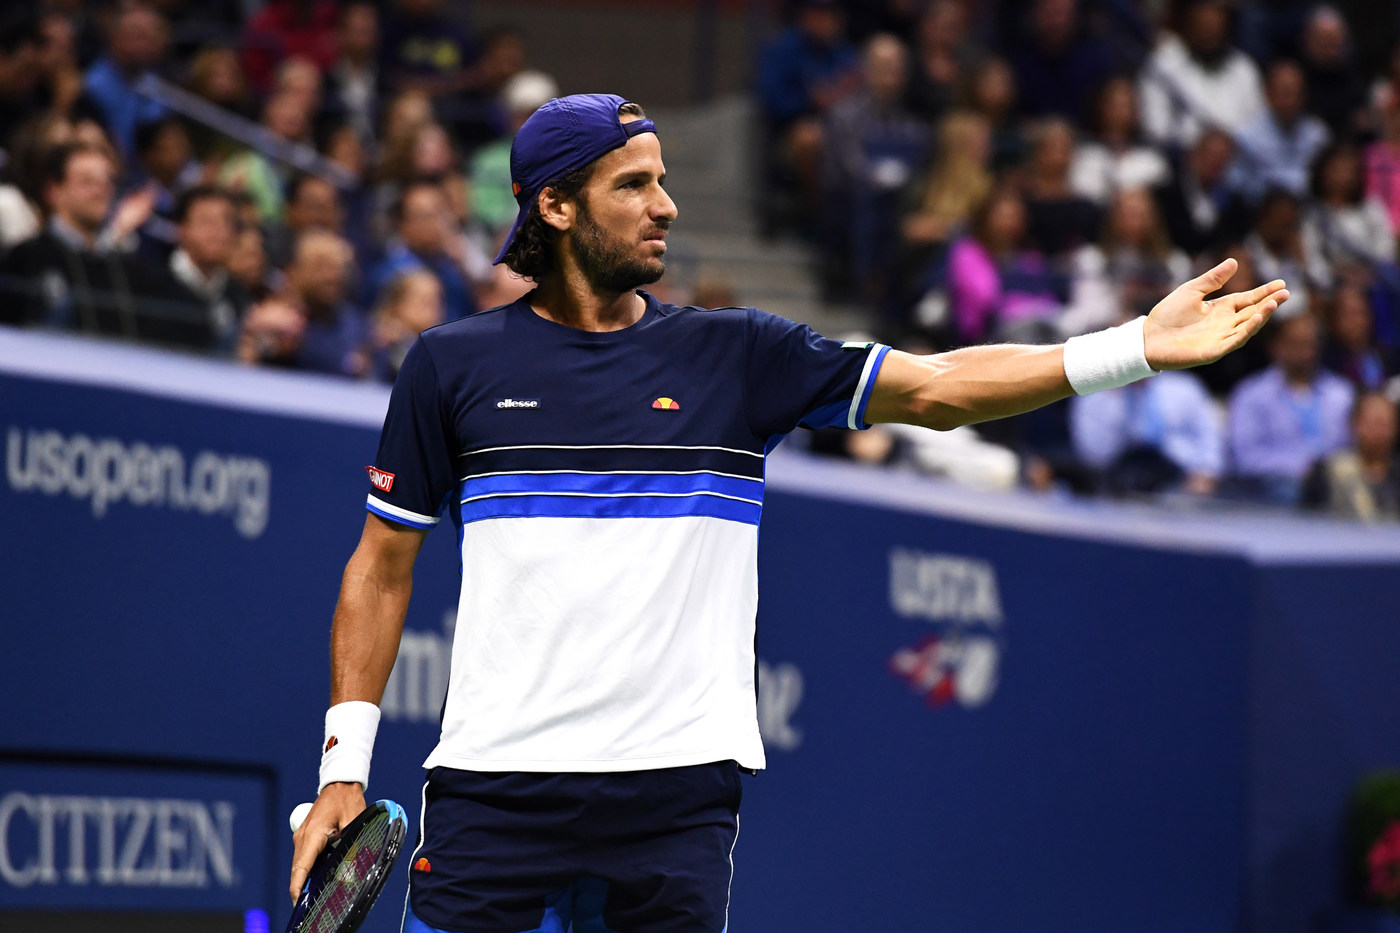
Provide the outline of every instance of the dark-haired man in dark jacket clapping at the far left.
<path id="1" fill-rule="evenodd" d="M 43 171 L 43 231 L 4 258 L 8 287 L 0 319 L 56 329 L 164 339 L 143 319 L 134 290 L 140 269 L 129 255 L 132 231 L 150 216 L 148 199 L 129 199 L 108 212 L 115 195 L 111 156 L 95 146 L 67 143 L 49 153 Z"/>

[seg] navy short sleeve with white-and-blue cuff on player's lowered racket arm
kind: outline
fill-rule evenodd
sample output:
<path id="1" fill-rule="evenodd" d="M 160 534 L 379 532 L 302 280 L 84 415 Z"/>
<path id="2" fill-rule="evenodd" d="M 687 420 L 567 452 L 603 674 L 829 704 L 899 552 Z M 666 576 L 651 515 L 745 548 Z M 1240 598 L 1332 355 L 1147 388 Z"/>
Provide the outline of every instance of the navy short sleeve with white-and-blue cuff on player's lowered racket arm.
<path id="1" fill-rule="evenodd" d="M 438 523 L 442 500 L 456 486 L 449 406 L 437 367 L 419 339 L 393 381 L 365 507 L 412 528 Z"/>

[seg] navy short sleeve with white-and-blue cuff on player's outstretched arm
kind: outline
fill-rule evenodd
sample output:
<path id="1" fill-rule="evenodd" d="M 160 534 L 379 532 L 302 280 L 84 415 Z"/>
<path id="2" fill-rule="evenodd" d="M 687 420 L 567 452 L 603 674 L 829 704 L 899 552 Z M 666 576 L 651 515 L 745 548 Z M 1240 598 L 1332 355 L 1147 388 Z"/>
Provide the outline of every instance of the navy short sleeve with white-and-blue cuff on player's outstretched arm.
<path id="1" fill-rule="evenodd" d="M 805 427 L 861 430 L 888 346 L 841 343 L 776 314 L 749 310 L 745 402 L 760 437 Z"/>

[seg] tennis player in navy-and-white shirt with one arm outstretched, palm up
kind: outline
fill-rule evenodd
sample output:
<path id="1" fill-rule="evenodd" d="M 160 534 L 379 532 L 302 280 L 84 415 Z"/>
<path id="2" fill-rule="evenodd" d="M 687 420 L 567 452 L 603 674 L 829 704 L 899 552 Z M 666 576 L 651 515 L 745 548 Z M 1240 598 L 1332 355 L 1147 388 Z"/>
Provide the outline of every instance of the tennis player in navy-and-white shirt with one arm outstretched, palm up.
<path id="1" fill-rule="evenodd" d="M 462 594 L 409 933 L 725 929 L 739 773 L 764 763 L 757 531 L 784 434 L 949 429 L 1210 363 L 1288 297 L 1271 282 L 1205 301 L 1226 261 L 1064 346 L 910 356 L 640 291 L 665 270 L 676 206 L 636 104 L 550 101 L 511 174 L 519 216 L 496 261 L 538 287 L 424 332 L 403 361 L 336 607 L 319 796 L 295 835 L 293 897 L 365 806 L 413 563 L 447 514 Z"/>

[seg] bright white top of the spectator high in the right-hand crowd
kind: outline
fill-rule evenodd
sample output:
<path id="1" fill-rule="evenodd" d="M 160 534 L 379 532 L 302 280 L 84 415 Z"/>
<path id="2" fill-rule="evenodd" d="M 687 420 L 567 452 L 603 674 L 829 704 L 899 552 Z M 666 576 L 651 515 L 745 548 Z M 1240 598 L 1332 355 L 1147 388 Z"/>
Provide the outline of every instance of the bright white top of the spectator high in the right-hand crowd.
<path id="1" fill-rule="evenodd" d="M 1168 87 L 1184 98 L 1184 106 Z M 1166 35 L 1144 63 L 1140 97 L 1148 139 L 1180 148 L 1201 134 L 1203 119 L 1233 136 L 1264 109 L 1259 66 L 1247 55 L 1232 49 L 1210 69 L 1175 35 Z"/>

